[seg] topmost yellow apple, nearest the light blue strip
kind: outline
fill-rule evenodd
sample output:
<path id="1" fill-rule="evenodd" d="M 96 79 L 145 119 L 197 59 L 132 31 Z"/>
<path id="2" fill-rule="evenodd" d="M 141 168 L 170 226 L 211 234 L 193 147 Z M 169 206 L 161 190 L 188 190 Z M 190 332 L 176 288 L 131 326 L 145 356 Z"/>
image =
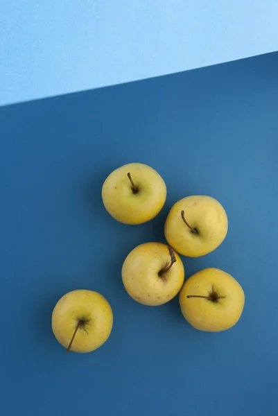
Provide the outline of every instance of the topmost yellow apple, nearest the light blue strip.
<path id="1" fill-rule="evenodd" d="M 150 166 L 130 163 L 110 173 L 102 198 L 105 209 L 120 223 L 146 223 L 164 206 L 166 184 Z"/>

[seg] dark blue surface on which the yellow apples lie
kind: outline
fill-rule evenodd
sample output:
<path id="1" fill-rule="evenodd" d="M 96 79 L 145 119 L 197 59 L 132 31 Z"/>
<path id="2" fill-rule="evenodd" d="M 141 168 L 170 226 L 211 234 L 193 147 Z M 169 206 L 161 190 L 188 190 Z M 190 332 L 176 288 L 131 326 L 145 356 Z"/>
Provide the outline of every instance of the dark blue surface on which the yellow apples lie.
<path id="1" fill-rule="evenodd" d="M 1 411 L 3 415 L 275 415 L 278 405 L 278 54 L 0 109 Z M 145 225 L 116 223 L 101 186 L 128 162 L 166 181 L 166 206 Z M 121 264 L 164 241 L 173 202 L 224 205 L 215 252 L 184 258 L 245 290 L 233 329 L 202 333 L 177 299 L 151 308 L 123 289 Z M 103 293 L 110 339 L 64 354 L 51 312 L 68 291 Z"/>

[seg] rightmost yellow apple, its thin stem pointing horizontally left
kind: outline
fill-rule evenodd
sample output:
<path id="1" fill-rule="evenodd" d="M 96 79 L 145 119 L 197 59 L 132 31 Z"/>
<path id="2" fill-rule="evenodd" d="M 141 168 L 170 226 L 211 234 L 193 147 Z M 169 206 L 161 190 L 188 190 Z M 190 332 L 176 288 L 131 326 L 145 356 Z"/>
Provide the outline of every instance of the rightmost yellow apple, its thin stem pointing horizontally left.
<path id="1" fill-rule="evenodd" d="M 245 302 L 241 285 L 216 268 L 201 270 L 189 277 L 180 291 L 180 309 L 192 327 L 220 332 L 234 327 Z"/>

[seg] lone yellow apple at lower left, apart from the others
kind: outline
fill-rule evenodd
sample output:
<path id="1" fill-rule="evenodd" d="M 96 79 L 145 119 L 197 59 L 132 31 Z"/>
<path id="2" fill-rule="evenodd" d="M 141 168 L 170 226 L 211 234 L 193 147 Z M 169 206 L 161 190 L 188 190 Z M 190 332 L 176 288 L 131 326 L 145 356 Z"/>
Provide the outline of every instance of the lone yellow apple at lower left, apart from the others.
<path id="1" fill-rule="evenodd" d="M 112 309 L 105 297 L 83 289 L 61 297 L 52 313 L 53 333 L 67 352 L 91 352 L 101 347 L 112 324 Z"/>

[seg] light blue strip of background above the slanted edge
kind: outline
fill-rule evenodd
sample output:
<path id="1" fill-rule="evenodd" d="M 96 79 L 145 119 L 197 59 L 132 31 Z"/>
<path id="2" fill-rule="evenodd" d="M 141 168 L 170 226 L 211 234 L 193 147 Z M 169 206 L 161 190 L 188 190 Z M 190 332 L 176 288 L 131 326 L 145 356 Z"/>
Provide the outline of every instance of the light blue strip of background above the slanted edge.
<path id="1" fill-rule="evenodd" d="M 0 0 L 0 105 L 278 49 L 277 0 Z"/>

